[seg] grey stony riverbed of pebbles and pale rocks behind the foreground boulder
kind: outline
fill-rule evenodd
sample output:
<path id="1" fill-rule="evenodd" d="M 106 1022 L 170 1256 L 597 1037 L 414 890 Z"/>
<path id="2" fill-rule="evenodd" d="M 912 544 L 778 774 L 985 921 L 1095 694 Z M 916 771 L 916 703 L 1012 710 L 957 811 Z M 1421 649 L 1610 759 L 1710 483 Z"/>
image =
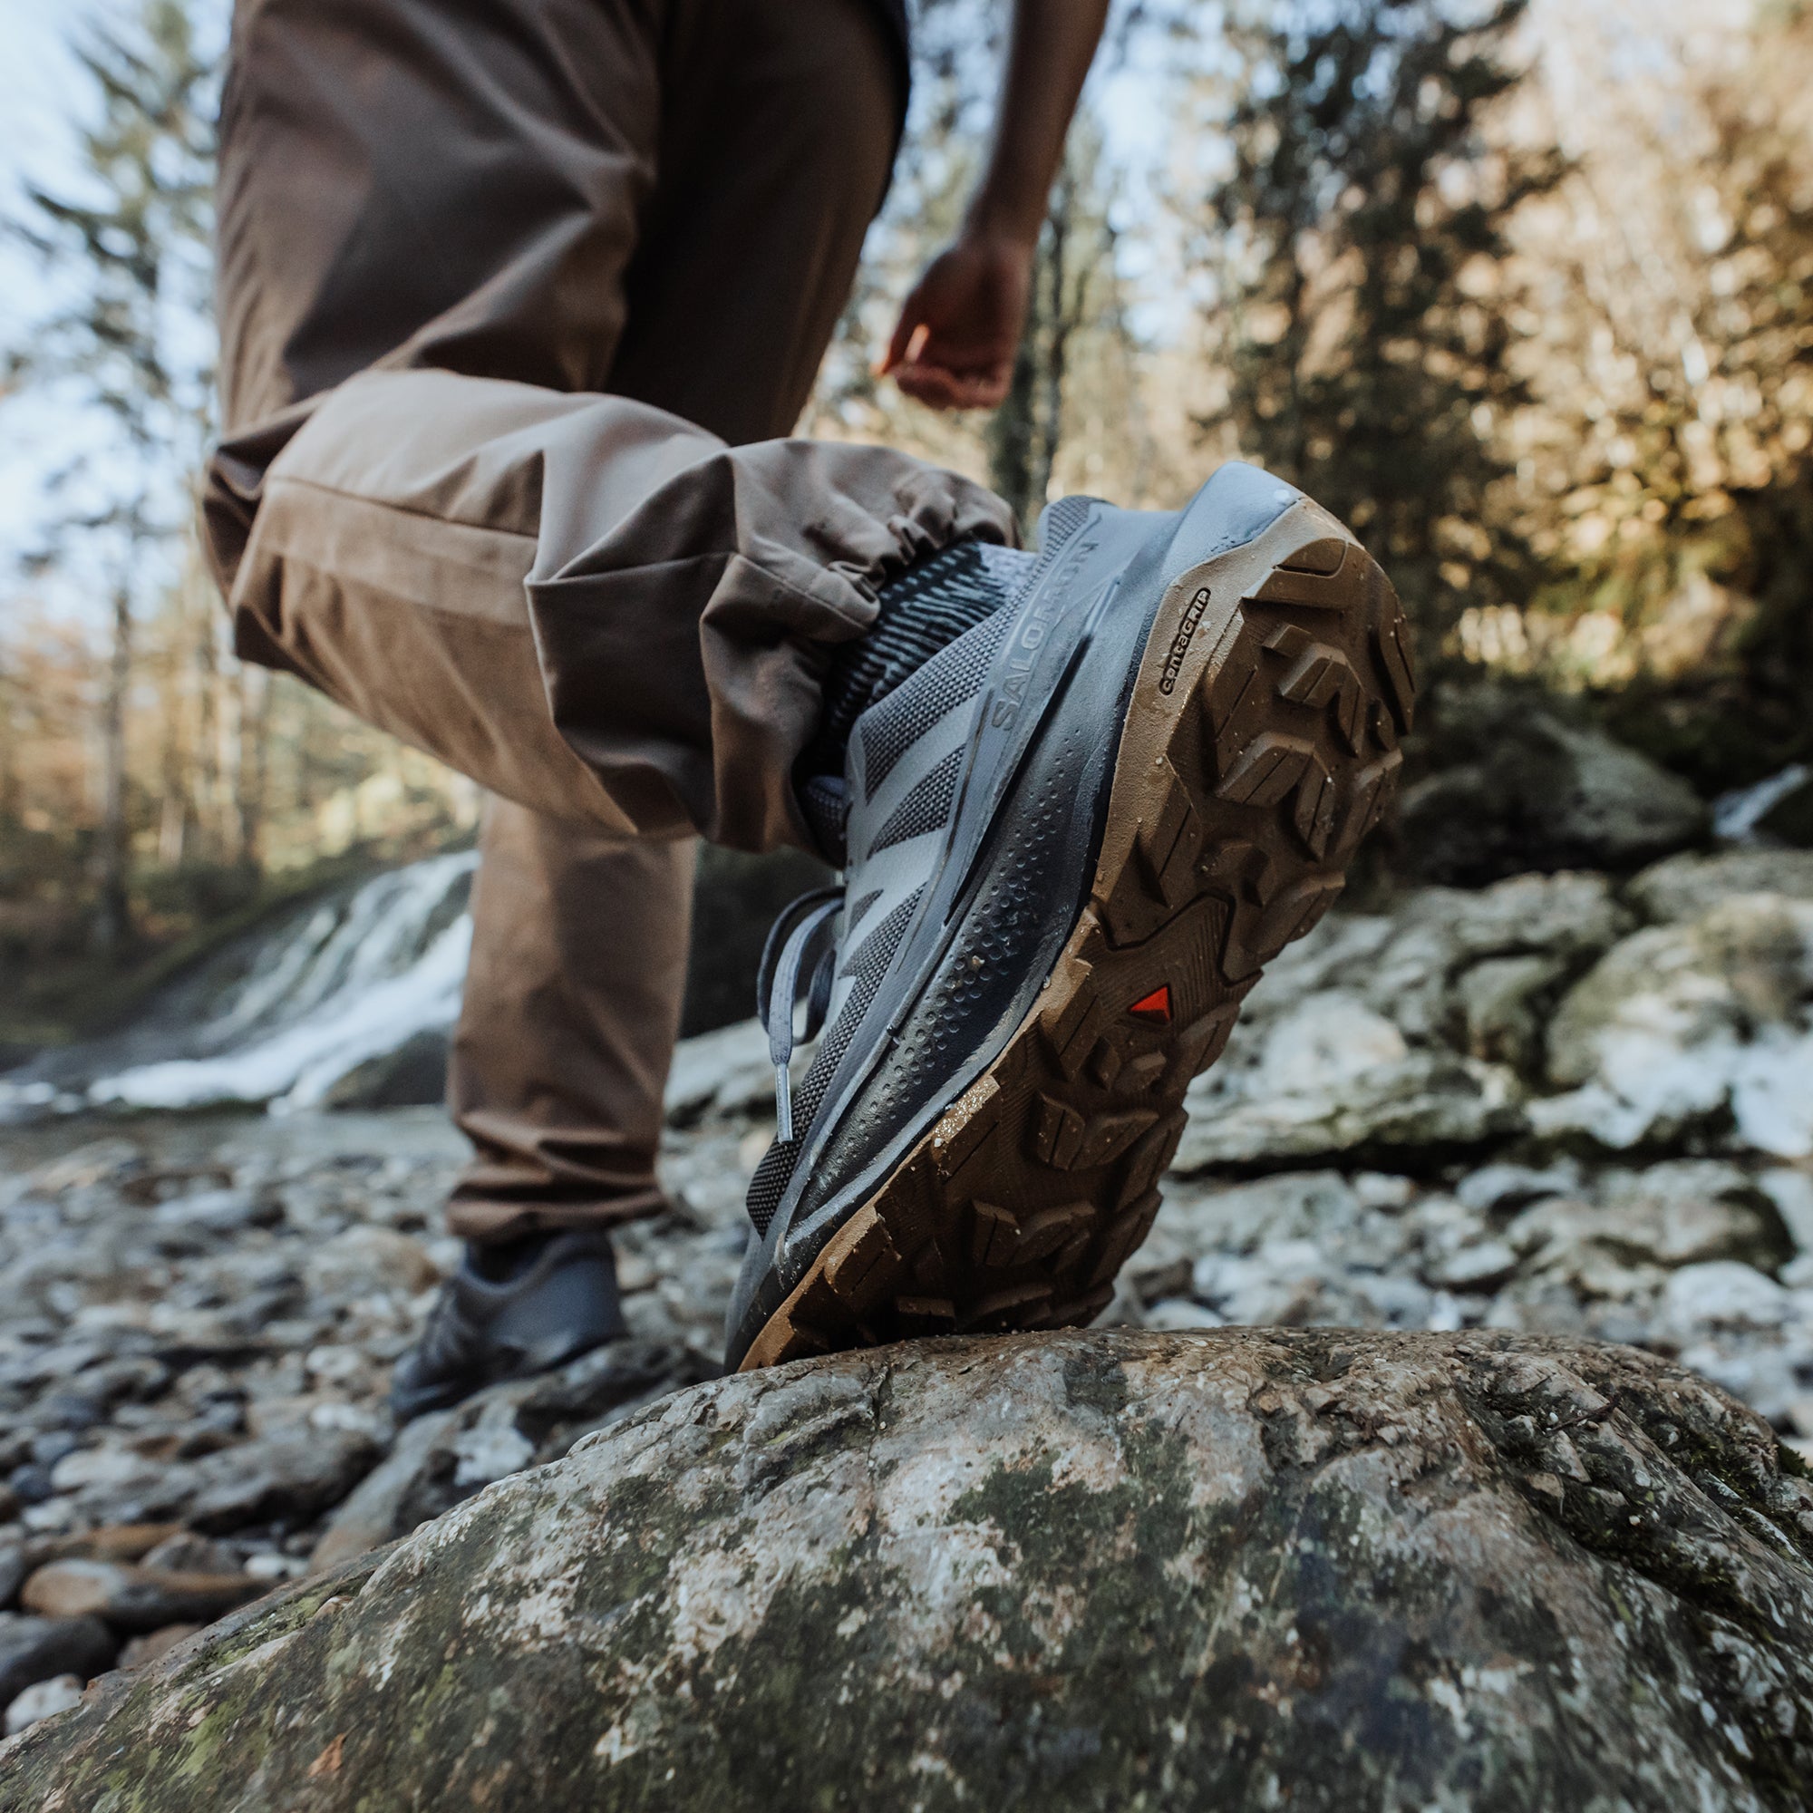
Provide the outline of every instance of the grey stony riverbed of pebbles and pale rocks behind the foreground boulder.
<path id="1" fill-rule="evenodd" d="M 7 1726 L 709 1378 L 769 1081 L 754 1028 L 682 1048 L 629 1340 L 402 1434 L 457 1256 L 437 1111 L 0 1131 Z M 1813 1454 L 1813 854 L 1336 914 L 1191 1106 L 1104 1323 L 1628 1342 Z"/>

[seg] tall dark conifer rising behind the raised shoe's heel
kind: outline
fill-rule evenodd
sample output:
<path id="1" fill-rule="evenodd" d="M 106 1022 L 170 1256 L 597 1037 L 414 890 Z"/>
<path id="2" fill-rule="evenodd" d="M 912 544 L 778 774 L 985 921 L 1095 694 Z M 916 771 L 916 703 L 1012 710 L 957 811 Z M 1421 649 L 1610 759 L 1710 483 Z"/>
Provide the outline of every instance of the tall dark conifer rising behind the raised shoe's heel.
<path id="1" fill-rule="evenodd" d="M 1217 272 L 1204 419 L 1367 542 L 1441 649 L 1467 604 L 1521 602 L 1532 558 L 1496 431 L 1510 361 L 1507 227 L 1565 167 L 1494 145 L 1527 0 L 1334 0 L 1235 22 L 1229 167 L 1202 210 Z"/>

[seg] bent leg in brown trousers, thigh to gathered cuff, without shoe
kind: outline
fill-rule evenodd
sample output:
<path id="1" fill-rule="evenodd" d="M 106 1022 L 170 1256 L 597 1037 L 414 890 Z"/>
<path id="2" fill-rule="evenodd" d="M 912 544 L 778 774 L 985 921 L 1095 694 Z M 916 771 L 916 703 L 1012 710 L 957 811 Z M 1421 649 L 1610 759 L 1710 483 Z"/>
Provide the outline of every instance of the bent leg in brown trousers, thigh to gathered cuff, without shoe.
<path id="1" fill-rule="evenodd" d="M 872 582 L 1010 533 L 899 453 L 602 393 L 664 58 L 763 5 L 243 0 L 207 495 L 254 660 L 537 810 L 743 848 L 809 841 L 790 769 Z M 723 272 L 700 334 L 740 299 Z"/>

